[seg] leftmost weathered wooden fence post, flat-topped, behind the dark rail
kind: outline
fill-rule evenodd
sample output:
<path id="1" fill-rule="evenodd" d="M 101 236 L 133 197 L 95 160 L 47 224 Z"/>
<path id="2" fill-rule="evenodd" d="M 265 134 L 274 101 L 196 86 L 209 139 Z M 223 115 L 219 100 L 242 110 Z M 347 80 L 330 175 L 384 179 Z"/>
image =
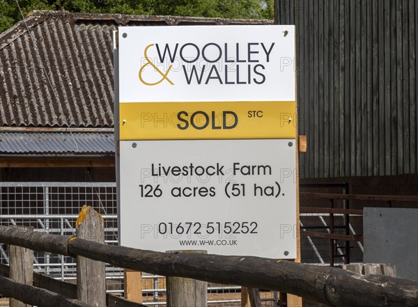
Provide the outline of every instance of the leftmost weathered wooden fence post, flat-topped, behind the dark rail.
<path id="1" fill-rule="evenodd" d="M 33 231 L 33 227 L 15 226 L 20 230 Z M 20 246 L 10 245 L 10 279 L 17 283 L 33 285 L 33 251 Z M 29 307 L 17 301 L 10 299 L 10 307 Z"/>

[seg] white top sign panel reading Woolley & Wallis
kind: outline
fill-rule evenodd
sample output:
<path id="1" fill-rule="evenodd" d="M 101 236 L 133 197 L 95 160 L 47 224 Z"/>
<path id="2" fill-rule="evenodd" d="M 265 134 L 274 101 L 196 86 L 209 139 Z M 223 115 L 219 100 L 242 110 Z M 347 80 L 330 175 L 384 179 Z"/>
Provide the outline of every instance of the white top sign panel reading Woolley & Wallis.
<path id="1" fill-rule="evenodd" d="M 119 27 L 120 101 L 295 100 L 294 30 L 261 25 Z"/>

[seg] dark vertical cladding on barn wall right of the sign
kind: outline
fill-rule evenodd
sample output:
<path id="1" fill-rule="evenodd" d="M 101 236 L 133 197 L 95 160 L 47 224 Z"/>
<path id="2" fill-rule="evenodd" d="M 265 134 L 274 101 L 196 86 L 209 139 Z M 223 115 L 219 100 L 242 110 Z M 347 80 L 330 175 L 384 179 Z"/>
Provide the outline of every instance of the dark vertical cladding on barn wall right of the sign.
<path id="1" fill-rule="evenodd" d="M 275 4 L 296 27 L 300 177 L 418 173 L 418 1 Z"/>

